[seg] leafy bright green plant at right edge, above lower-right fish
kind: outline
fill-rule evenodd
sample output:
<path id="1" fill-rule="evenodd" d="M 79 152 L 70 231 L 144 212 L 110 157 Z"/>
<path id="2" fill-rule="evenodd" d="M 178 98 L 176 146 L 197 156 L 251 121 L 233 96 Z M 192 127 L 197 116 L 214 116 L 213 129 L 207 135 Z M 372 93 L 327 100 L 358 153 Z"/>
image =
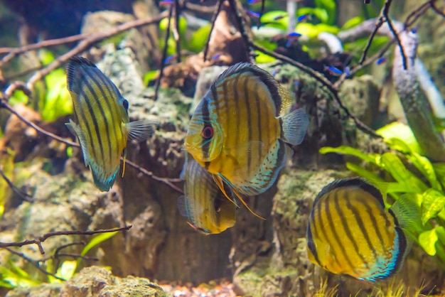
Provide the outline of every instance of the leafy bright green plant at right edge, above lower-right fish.
<path id="1" fill-rule="evenodd" d="M 350 146 L 338 146 L 321 148 L 320 153 L 355 156 L 369 163 L 373 169 L 349 161 L 345 165 L 375 183 L 393 200 L 402 199 L 417 205 L 416 222 L 410 233 L 427 254 L 445 262 L 445 163 L 431 163 L 422 156 L 409 126 L 393 123 L 377 130 L 377 134 L 383 137 L 391 151 L 363 153 Z"/>

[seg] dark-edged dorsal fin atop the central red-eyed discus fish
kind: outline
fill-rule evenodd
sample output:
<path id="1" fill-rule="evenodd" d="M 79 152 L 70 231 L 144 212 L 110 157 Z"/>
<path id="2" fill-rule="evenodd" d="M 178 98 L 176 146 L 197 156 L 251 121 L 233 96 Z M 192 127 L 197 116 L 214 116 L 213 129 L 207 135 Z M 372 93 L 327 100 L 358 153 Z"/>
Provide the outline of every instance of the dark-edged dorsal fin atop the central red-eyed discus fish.
<path id="1" fill-rule="evenodd" d="M 274 102 L 276 117 L 282 116 L 287 112 L 292 104 L 293 97 L 291 93 L 282 87 L 282 85 L 280 85 L 269 72 L 251 63 L 237 63 L 232 65 L 230 68 L 220 74 L 218 79 L 213 82 L 211 88 L 216 87 L 218 84 L 232 75 L 242 75 L 244 73 L 250 73 L 253 75 L 255 79 L 257 79 L 262 85 L 264 85 L 264 88 L 269 91 L 270 99 L 272 102 Z"/>

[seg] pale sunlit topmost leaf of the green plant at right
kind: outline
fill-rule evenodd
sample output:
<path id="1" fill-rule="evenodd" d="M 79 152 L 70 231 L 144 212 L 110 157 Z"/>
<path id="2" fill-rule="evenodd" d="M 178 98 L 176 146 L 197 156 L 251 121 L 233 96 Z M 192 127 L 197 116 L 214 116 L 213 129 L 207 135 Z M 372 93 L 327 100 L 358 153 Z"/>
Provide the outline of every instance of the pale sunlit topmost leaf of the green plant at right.
<path id="1" fill-rule="evenodd" d="M 414 151 L 421 155 L 423 154 L 422 148 L 420 148 L 416 137 L 414 136 L 411 128 L 409 128 L 407 124 L 394 121 L 391 124 L 383 126 L 382 128 L 378 129 L 375 132 L 380 136 L 382 136 L 385 139 L 385 141 L 387 140 L 389 141 L 389 139 L 400 139 L 400 141 L 402 141 L 404 144 L 406 144 L 406 146 L 409 147 L 409 151 Z M 391 143 L 388 144 L 391 145 Z M 400 144 L 400 142 L 397 144 Z"/>

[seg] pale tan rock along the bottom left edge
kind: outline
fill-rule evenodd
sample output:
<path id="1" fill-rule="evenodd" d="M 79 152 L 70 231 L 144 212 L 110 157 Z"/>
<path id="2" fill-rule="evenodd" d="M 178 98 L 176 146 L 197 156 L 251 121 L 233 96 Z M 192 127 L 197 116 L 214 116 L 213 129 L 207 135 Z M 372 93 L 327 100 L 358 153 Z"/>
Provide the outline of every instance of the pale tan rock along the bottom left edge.
<path id="1" fill-rule="evenodd" d="M 148 279 L 134 276 L 119 278 L 107 269 L 90 266 L 82 269 L 65 284 L 42 284 L 31 288 L 16 288 L 8 297 L 164 297 L 171 296 Z"/>

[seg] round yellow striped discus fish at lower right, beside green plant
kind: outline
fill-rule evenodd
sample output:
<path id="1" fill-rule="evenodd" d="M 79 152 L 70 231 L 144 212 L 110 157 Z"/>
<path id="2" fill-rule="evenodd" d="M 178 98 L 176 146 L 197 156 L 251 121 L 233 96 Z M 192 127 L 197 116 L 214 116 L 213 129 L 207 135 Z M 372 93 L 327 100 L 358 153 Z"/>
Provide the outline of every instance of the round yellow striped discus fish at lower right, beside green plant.
<path id="1" fill-rule="evenodd" d="M 403 217 L 393 209 L 385 209 L 380 190 L 361 178 L 326 185 L 309 216 L 309 259 L 333 274 L 359 280 L 392 276 L 412 243 L 400 224 Z"/>

